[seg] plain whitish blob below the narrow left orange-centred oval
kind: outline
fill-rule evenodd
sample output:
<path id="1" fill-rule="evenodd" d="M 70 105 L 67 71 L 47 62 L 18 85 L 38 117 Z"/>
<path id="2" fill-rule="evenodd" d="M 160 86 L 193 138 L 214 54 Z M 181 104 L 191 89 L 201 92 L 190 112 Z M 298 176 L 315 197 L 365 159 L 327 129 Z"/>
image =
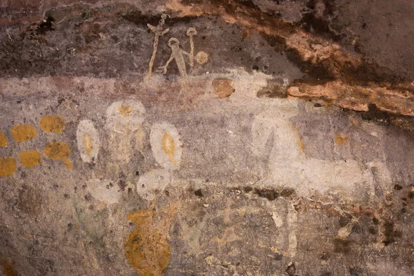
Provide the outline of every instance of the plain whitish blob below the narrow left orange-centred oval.
<path id="1" fill-rule="evenodd" d="M 119 201 L 117 187 L 109 180 L 90 179 L 86 182 L 86 186 L 90 195 L 103 203 L 115 204 Z"/>

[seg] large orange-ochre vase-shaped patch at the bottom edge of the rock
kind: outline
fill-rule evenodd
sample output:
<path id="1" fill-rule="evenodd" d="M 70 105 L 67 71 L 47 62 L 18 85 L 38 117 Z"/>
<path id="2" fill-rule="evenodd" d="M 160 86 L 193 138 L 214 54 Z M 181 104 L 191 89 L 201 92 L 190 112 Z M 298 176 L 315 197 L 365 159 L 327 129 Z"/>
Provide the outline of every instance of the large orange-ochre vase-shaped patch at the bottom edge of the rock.
<path id="1" fill-rule="evenodd" d="M 130 265 L 139 275 L 164 275 L 170 261 L 170 246 L 164 233 L 152 225 L 157 213 L 152 210 L 137 210 L 128 214 L 137 229 L 126 238 L 124 251 Z"/>

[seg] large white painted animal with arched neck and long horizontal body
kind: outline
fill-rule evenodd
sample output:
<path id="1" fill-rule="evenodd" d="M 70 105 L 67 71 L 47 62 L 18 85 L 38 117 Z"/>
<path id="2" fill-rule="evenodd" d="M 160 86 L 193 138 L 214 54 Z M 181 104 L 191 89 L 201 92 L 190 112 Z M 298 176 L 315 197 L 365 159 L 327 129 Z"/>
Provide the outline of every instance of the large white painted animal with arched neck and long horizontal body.
<path id="1" fill-rule="evenodd" d="M 306 157 L 302 139 L 295 126 L 284 116 L 286 114 L 280 115 L 277 111 L 265 111 L 256 116 L 252 126 L 255 154 L 264 154 L 267 142 L 273 139 L 265 185 L 295 188 L 299 194 L 316 190 L 319 193 L 366 200 L 366 196 L 369 199 L 374 196 L 372 166 L 381 170 L 379 181 L 390 181 L 388 170 L 381 164 L 360 164 L 353 159 L 328 161 Z M 365 187 L 367 194 L 357 192 L 358 187 Z"/>

